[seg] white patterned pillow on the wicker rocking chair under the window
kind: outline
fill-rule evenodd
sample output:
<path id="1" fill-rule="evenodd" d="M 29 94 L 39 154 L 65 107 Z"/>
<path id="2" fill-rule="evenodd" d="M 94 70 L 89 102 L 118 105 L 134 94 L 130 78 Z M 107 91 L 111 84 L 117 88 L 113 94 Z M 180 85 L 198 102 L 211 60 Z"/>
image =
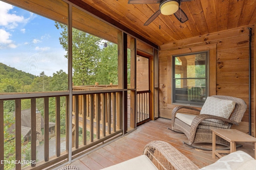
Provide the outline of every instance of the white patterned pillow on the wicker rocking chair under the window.
<path id="1" fill-rule="evenodd" d="M 200 114 L 215 115 L 228 119 L 235 106 L 236 102 L 231 100 L 207 97 L 204 106 L 200 111 Z"/>

